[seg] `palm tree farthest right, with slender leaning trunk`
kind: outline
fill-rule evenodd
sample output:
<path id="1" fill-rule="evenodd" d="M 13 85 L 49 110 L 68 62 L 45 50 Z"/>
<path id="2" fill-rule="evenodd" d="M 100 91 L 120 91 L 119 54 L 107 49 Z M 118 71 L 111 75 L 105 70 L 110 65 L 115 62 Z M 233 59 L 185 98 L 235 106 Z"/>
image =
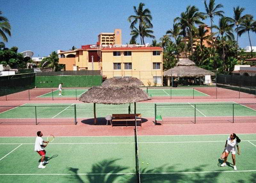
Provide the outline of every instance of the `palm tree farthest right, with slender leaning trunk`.
<path id="1" fill-rule="evenodd" d="M 256 21 L 253 20 L 253 16 L 252 15 L 247 15 L 241 22 L 240 24 L 241 26 L 236 28 L 236 32 L 238 33 L 239 36 L 241 36 L 243 33 L 248 33 L 248 37 L 249 37 L 249 42 L 250 42 L 250 46 L 251 46 L 251 50 L 252 50 L 252 43 L 251 43 L 251 38 L 250 38 L 250 34 L 249 32 L 255 32 L 256 33 Z M 251 51 L 252 52 L 252 51 Z"/>

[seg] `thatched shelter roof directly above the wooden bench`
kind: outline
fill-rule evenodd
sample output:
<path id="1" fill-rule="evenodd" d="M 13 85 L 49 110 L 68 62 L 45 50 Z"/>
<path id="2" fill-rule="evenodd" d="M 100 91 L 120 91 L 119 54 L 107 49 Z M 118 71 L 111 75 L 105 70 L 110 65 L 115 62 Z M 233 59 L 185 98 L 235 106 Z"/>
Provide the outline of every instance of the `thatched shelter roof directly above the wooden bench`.
<path id="1" fill-rule="evenodd" d="M 79 98 L 80 101 L 97 104 L 127 104 L 148 99 L 148 94 L 136 86 L 93 86 Z"/>

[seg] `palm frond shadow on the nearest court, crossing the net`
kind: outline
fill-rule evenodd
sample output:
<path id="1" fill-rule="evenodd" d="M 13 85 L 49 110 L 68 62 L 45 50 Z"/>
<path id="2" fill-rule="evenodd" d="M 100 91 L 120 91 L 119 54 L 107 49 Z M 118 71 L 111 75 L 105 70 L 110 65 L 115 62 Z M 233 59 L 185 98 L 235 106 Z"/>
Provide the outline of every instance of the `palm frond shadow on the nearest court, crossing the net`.
<path id="1" fill-rule="evenodd" d="M 74 175 L 68 175 L 65 177 L 66 181 L 70 182 L 91 182 L 91 183 L 134 183 L 138 182 L 138 176 L 135 173 L 135 169 L 131 172 L 129 167 L 116 165 L 116 161 L 103 160 L 99 163 L 92 165 L 91 172 L 81 172 L 78 168 L 69 167 L 68 170 Z M 176 166 L 163 165 L 154 169 L 140 168 L 140 182 L 147 183 L 162 183 L 162 182 L 218 182 L 218 176 L 221 172 L 200 173 L 204 171 L 206 165 L 196 166 L 194 168 L 185 168 L 181 171 L 175 171 Z M 135 167 L 134 167 L 135 168 Z M 122 174 L 129 172 L 131 174 Z M 162 172 L 171 172 L 170 174 L 164 174 Z M 180 173 L 180 172 L 195 172 L 195 173 Z M 199 172 L 199 173 L 197 173 Z M 87 175 L 79 175 L 79 173 L 87 173 Z"/>

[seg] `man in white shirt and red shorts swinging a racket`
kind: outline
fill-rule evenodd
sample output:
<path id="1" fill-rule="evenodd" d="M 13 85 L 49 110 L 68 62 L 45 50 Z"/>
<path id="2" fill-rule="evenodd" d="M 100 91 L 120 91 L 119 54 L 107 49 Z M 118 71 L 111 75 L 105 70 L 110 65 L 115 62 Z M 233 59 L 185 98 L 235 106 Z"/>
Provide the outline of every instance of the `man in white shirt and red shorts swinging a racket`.
<path id="1" fill-rule="evenodd" d="M 46 154 L 46 151 L 44 150 L 44 148 L 46 147 L 46 145 L 44 145 L 44 143 L 48 143 L 47 141 L 44 141 L 43 138 L 43 133 L 41 131 L 37 132 L 37 137 L 36 137 L 36 142 L 35 142 L 35 151 L 42 156 L 41 158 L 41 162 L 38 166 L 38 168 L 45 168 L 45 166 L 43 164 L 47 164 L 48 161 L 44 161 L 44 157 Z"/>

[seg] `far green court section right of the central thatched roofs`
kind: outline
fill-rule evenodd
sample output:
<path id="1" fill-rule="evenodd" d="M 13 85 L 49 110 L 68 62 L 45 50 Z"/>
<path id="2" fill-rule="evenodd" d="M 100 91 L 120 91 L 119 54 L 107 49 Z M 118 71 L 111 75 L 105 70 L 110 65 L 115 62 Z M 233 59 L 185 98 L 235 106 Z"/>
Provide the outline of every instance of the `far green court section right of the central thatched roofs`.
<path id="1" fill-rule="evenodd" d="M 147 92 L 147 89 L 143 89 Z M 182 96 L 209 96 L 201 91 L 193 88 L 148 88 L 148 94 L 154 96 L 172 96 L 172 97 L 182 97 Z"/>

